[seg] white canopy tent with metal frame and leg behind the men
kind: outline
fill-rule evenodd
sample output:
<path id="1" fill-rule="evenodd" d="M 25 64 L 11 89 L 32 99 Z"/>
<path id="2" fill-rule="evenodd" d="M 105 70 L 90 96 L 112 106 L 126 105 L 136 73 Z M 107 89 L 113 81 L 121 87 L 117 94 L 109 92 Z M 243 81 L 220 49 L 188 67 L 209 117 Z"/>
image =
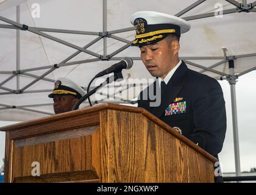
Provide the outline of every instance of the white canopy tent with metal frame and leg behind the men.
<path id="1" fill-rule="evenodd" d="M 234 0 L 0 0 L 0 120 L 52 115 L 48 94 L 55 79 L 69 77 L 86 89 L 96 73 L 123 57 L 134 60 L 133 68 L 123 71 L 125 78 L 151 78 L 138 48 L 129 47 L 135 34 L 129 19 L 140 10 L 165 12 L 191 23 L 180 40 L 180 59 L 191 69 L 230 83 L 239 175 L 235 83 L 256 69 L 255 6 L 256 1 Z M 141 85 L 148 83 L 138 80 L 128 89 L 119 83 L 115 94 L 103 91 L 104 98 L 94 104 L 136 104 Z M 119 93 L 125 90 L 132 96 Z"/>

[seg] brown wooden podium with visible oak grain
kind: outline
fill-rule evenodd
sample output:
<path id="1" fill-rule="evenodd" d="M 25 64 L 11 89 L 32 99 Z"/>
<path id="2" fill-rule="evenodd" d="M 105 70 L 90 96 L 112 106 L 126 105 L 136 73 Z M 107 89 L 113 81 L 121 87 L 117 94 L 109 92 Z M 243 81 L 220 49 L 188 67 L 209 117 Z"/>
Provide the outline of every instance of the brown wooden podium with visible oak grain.
<path id="1" fill-rule="evenodd" d="M 214 182 L 218 160 L 143 108 L 99 104 L 0 130 L 5 182 Z"/>

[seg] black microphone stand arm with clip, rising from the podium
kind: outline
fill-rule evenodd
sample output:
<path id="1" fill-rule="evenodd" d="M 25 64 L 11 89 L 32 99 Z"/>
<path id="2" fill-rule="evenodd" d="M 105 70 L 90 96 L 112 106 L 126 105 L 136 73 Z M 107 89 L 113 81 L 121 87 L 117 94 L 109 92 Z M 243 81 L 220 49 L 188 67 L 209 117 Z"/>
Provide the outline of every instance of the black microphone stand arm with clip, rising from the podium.
<path id="1" fill-rule="evenodd" d="M 79 99 L 79 101 L 77 102 L 76 105 L 74 105 L 74 107 L 72 108 L 72 110 L 77 110 L 77 108 L 79 107 L 79 105 L 85 101 L 85 99 L 89 98 L 92 94 L 96 93 L 97 90 L 99 90 L 100 88 L 104 87 L 105 85 L 107 85 L 108 83 L 112 83 L 113 81 L 116 81 L 117 79 L 124 79 L 123 74 L 121 71 L 119 71 L 118 73 L 114 73 L 113 76 L 107 77 L 107 79 L 105 80 L 105 82 L 101 83 L 101 85 L 99 85 L 98 87 L 95 87 L 93 90 L 91 90 L 90 92 L 88 92 L 87 94 L 85 94 L 82 98 Z"/>

